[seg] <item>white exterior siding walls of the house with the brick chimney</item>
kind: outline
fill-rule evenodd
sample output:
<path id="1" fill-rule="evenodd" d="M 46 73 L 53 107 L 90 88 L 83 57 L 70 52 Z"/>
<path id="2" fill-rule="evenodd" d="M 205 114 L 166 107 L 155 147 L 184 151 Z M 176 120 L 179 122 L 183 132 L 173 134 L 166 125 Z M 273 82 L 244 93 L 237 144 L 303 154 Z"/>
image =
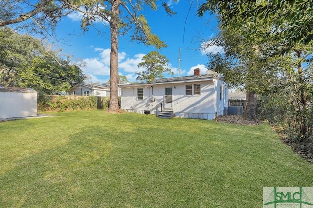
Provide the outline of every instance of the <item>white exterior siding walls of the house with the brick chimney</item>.
<path id="1" fill-rule="evenodd" d="M 190 82 L 188 84 L 195 83 Z M 152 110 L 152 113 L 155 113 L 156 105 L 164 101 L 165 88 L 172 87 L 172 109 L 175 116 L 182 118 L 214 119 L 215 110 L 217 110 L 217 116 L 223 115 L 224 105 L 228 102 L 225 102 L 224 82 L 214 80 L 214 82 L 202 82 L 200 84 L 200 95 L 185 95 L 186 83 L 134 88 L 124 87 L 122 88 L 121 108 L 129 112 L 144 113 L 145 110 Z M 220 85 L 222 86 L 221 100 L 219 100 Z M 143 88 L 143 100 L 137 99 L 137 88 Z M 152 97 L 155 99 L 155 102 L 151 102 Z"/>

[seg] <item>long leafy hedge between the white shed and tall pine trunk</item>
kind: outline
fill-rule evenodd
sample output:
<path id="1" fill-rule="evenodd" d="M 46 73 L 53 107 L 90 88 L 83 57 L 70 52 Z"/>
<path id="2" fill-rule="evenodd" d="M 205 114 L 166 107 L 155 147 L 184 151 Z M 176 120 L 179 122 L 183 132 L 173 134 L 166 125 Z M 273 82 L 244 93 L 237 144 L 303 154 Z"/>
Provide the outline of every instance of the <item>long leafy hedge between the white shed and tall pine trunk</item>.
<path id="1" fill-rule="evenodd" d="M 64 96 L 64 95 L 39 95 L 37 110 L 44 111 L 74 111 L 89 109 L 107 109 L 109 97 L 96 96 Z"/>

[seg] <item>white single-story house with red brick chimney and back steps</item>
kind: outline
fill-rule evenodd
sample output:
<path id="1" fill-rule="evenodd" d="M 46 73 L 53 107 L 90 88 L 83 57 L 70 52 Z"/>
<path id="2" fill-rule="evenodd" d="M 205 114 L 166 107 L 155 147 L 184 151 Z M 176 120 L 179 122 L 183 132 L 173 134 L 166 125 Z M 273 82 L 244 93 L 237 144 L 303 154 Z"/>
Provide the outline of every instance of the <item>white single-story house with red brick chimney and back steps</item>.
<path id="1" fill-rule="evenodd" d="M 214 119 L 227 112 L 228 88 L 214 74 L 162 78 L 152 83 L 121 85 L 121 109 L 163 115 L 162 110 L 181 118 Z"/>

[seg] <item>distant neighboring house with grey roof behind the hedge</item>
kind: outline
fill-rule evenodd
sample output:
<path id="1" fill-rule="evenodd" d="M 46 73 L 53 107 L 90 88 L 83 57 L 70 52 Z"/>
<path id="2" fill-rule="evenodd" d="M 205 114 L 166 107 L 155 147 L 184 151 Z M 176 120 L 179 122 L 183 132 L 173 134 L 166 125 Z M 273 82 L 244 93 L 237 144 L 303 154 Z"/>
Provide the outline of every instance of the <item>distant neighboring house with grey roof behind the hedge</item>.
<path id="1" fill-rule="evenodd" d="M 76 84 L 69 92 L 69 95 L 86 95 L 110 97 L 110 87 L 94 84 Z"/>

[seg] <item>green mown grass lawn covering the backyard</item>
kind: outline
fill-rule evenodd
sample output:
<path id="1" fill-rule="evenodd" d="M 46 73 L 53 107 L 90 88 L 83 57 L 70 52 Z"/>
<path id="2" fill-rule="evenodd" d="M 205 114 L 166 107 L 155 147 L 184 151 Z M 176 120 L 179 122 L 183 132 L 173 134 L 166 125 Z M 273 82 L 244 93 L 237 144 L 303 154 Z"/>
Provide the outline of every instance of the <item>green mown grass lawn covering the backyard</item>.
<path id="1" fill-rule="evenodd" d="M 0 123 L 1 207 L 262 207 L 263 187 L 313 187 L 269 125 L 100 110 Z"/>

